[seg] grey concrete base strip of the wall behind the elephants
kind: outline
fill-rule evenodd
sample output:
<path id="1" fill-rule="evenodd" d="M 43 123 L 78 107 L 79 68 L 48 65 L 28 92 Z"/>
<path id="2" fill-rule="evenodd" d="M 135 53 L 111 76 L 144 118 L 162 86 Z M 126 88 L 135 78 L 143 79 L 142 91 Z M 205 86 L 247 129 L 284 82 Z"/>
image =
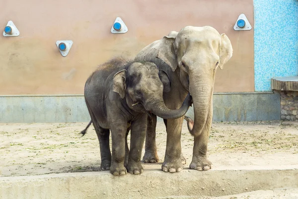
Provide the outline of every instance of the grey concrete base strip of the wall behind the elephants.
<path id="1" fill-rule="evenodd" d="M 278 93 L 215 93 L 213 104 L 214 122 L 272 121 L 280 120 L 281 117 Z M 193 107 L 190 107 L 187 115 L 193 118 Z M 89 121 L 83 95 L 0 96 L 0 123 Z"/>

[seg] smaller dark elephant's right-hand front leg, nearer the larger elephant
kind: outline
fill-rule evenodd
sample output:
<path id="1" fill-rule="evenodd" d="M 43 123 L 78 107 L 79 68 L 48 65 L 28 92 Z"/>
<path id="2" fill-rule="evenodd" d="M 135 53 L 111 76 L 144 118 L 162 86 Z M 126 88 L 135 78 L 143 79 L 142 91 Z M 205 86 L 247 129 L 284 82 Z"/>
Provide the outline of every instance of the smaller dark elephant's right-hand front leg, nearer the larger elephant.
<path id="1" fill-rule="evenodd" d="M 137 121 L 132 122 L 131 144 L 128 158 L 127 171 L 131 174 L 143 173 L 141 165 L 142 148 L 147 130 L 147 115 Z"/>

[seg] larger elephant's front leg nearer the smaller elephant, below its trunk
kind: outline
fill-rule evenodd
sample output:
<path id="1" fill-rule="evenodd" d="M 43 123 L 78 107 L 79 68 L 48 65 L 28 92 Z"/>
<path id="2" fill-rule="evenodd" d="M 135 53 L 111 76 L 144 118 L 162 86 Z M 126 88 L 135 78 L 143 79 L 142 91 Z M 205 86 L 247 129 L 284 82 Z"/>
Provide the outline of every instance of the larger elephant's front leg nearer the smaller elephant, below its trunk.
<path id="1" fill-rule="evenodd" d="M 167 120 L 166 150 L 161 166 L 164 172 L 180 172 L 183 169 L 180 141 L 183 118 Z"/>

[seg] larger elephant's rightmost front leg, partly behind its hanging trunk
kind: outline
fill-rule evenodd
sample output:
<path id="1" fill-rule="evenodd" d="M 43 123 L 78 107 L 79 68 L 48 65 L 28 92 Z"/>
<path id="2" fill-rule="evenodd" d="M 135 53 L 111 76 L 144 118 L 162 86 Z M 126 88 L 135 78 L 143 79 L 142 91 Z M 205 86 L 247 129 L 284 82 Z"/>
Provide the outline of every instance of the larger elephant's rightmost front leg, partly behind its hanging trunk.
<path id="1" fill-rule="evenodd" d="M 189 165 L 190 169 L 196 169 L 198 171 L 205 171 L 211 169 L 212 163 L 207 159 L 207 147 L 212 125 L 212 114 L 213 107 L 211 104 L 205 127 L 203 128 L 203 131 L 199 136 L 195 136 L 193 157 Z"/>

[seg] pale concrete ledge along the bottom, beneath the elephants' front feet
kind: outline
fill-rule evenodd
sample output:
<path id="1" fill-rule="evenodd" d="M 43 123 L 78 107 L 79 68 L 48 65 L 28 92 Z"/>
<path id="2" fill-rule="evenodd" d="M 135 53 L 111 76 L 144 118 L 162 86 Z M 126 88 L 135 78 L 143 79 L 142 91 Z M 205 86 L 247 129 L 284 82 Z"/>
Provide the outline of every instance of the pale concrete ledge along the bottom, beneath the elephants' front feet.
<path id="1" fill-rule="evenodd" d="M 0 178 L 1 199 L 198 198 L 277 188 L 298 188 L 298 170 L 145 170 L 125 176 L 105 171 Z"/>

